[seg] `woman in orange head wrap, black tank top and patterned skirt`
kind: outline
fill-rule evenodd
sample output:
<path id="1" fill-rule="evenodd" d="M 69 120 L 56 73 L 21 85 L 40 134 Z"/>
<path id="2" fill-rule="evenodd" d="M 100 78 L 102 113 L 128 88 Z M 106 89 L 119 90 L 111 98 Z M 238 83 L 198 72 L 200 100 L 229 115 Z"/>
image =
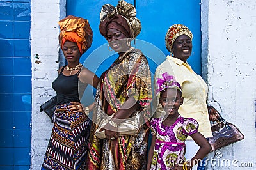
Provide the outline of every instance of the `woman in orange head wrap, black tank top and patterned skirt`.
<path id="1" fill-rule="evenodd" d="M 83 107 L 79 95 L 88 84 L 97 88 L 99 79 L 79 59 L 91 46 L 93 32 L 88 20 L 81 17 L 69 15 L 58 24 L 60 46 L 68 64 L 59 69 L 58 77 L 52 82 L 57 105 L 42 169 L 84 169 L 90 132 L 87 115 L 93 104 Z"/>

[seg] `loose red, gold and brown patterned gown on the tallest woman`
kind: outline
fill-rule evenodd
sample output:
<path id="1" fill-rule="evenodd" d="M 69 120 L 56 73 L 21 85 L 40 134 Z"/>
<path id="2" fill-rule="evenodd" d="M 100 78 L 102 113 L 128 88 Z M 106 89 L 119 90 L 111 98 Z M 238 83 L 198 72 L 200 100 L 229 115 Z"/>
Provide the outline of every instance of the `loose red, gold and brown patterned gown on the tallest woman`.
<path id="1" fill-rule="evenodd" d="M 102 114 L 112 115 L 128 95 L 140 104 L 141 125 L 138 134 L 99 139 L 95 135 Z M 149 111 L 152 100 L 151 76 L 147 58 L 138 49 L 122 56 L 100 77 L 95 95 L 95 109 L 88 145 L 87 169 L 146 169 L 149 135 Z"/>

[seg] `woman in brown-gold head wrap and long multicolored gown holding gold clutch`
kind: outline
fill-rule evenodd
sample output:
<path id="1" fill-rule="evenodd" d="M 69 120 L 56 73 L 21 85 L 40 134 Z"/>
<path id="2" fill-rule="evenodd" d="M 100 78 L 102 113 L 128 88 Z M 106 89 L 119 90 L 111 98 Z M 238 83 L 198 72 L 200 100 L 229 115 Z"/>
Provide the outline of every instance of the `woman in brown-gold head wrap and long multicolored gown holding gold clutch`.
<path id="1" fill-rule="evenodd" d="M 151 76 L 147 58 L 139 49 L 131 47 L 131 39 L 141 29 L 135 15 L 134 6 L 125 1 L 119 1 L 116 8 L 106 4 L 100 12 L 100 33 L 118 53 L 118 58 L 100 77 L 87 169 L 145 169 L 147 166 Z M 138 121 L 138 129 L 126 135 L 122 133 L 122 127 L 132 127 Z M 106 125 L 100 126 L 103 122 Z"/>

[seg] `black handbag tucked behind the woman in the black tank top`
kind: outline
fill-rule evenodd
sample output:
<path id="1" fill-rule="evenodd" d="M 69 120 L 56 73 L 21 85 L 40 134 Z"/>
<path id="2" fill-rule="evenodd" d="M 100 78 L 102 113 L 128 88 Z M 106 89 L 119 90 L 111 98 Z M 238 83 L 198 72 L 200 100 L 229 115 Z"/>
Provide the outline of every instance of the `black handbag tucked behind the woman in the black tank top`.
<path id="1" fill-rule="evenodd" d="M 40 112 L 44 111 L 49 116 L 52 123 L 54 123 L 53 114 L 56 108 L 56 104 L 57 104 L 57 95 L 52 97 L 50 100 L 48 100 L 47 102 L 45 102 L 40 106 Z"/>

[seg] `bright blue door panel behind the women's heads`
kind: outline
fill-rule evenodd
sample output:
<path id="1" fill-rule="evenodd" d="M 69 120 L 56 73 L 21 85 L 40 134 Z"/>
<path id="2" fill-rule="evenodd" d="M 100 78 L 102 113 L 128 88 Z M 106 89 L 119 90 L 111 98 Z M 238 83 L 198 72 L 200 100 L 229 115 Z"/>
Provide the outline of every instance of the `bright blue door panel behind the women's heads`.
<path id="1" fill-rule="evenodd" d="M 156 64 L 164 61 L 165 56 L 170 54 L 166 49 L 164 38 L 166 32 L 172 24 L 184 24 L 193 33 L 193 51 L 188 63 L 192 66 L 196 73 L 201 74 L 201 24 L 200 24 L 200 0 L 180 0 L 180 1 L 136 1 L 127 0 L 128 3 L 136 6 L 137 17 L 141 21 L 141 33 L 136 39 L 144 40 L 156 48 L 160 49 L 164 56 L 152 53 L 149 57 L 150 70 L 154 73 Z M 67 15 L 76 15 L 84 17 L 90 22 L 93 29 L 92 47 L 83 55 L 81 61 L 84 61 L 93 50 L 106 43 L 106 40 L 99 33 L 99 13 L 102 5 L 112 4 L 116 6 L 117 0 L 104 1 L 85 1 L 85 0 L 67 0 Z M 135 45 L 136 46 L 136 45 Z M 145 54 L 150 49 L 143 49 Z M 106 54 L 104 54 L 106 56 Z M 113 59 L 104 62 L 105 67 L 110 65 Z M 90 63 L 91 65 L 92 63 Z M 100 75 L 104 69 L 100 69 L 97 75 Z"/>

